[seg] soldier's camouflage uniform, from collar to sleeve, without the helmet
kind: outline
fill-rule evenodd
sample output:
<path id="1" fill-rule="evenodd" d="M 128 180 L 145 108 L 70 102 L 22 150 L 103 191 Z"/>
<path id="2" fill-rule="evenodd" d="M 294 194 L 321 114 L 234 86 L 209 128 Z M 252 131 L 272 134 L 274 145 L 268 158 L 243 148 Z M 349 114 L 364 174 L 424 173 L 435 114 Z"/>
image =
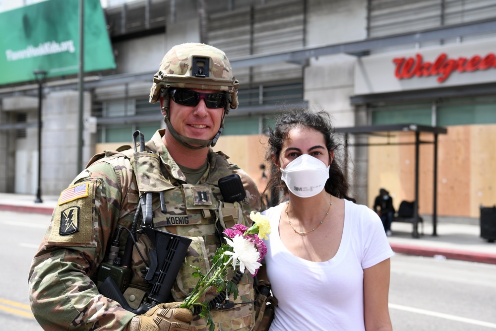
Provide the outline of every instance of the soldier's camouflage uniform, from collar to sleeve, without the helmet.
<path id="1" fill-rule="evenodd" d="M 134 314 L 102 296 L 95 277 L 99 265 L 108 257 L 115 229 L 121 225 L 130 227 L 140 193 L 165 191 L 165 213 L 161 211 L 158 195 L 153 199 L 154 227 L 192 239 L 186 264 L 182 265 L 172 290 L 175 301 L 184 300 L 196 284 L 197 278 L 191 277 L 193 270 L 188 264 L 203 271 L 209 268 L 208 257 L 219 246 L 215 219 L 223 218 L 226 226 L 236 222 L 246 224 L 249 212 L 260 209 L 260 196 L 251 178 L 212 149 L 205 174 L 195 185 L 187 184 L 162 141 L 163 134 L 164 131 L 158 131 L 146 143 L 146 150 L 153 153 L 127 150 L 94 157 L 92 164 L 70 186 L 86 191 L 73 196 L 64 196 L 67 190 L 62 192 L 29 273 L 31 308 L 45 330 L 127 329 Z M 242 205 L 223 202 L 217 186 L 220 178 L 232 173 L 241 176 L 247 192 Z M 198 201 L 194 195 L 197 192 L 206 192 L 208 199 Z M 145 255 L 150 246 L 148 238 L 138 235 L 137 240 L 139 250 Z M 124 242 L 121 240 L 121 253 Z M 140 271 L 144 266 L 134 248 L 131 288 L 145 287 Z M 242 304 L 227 310 L 212 310 L 216 330 L 252 329 L 254 293 L 247 272 L 239 291 L 234 302 Z M 215 294 L 207 293 L 205 301 Z M 230 299 L 233 301 L 232 296 Z M 191 325 L 191 330 L 207 330 L 206 321 L 199 316 L 193 316 Z"/>

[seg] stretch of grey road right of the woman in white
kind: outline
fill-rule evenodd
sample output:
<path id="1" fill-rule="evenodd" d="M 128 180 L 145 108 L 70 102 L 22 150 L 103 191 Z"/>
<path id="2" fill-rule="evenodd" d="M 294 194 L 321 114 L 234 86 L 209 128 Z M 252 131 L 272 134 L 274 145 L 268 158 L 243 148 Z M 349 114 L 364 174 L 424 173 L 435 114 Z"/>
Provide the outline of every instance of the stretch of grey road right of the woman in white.
<path id="1" fill-rule="evenodd" d="M 496 265 L 397 254 L 389 314 L 394 331 L 496 330 Z"/>

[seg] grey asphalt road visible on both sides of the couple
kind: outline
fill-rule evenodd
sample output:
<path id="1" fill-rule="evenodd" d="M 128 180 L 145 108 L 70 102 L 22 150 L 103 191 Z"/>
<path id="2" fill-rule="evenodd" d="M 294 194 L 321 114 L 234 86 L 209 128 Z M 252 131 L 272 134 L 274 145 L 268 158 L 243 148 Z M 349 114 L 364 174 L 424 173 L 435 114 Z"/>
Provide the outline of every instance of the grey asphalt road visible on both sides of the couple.
<path id="1" fill-rule="evenodd" d="M 0 330 L 42 330 L 27 277 L 50 216 L 0 211 Z M 397 254 L 391 260 L 394 331 L 496 330 L 496 265 Z"/>

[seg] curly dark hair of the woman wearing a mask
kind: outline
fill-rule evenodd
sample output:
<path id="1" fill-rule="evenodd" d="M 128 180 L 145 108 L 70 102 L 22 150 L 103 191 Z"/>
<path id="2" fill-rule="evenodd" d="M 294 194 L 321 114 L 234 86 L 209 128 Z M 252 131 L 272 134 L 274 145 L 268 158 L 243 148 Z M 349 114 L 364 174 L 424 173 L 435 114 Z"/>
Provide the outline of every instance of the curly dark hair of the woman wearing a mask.
<path id="1" fill-rule="evenodd" d="M 322 132 L 325 139 L 325 146 L 329 152 L 335 151 L 340 146 L 333 138 L 334 128 L 332 127 L 329 114 L 325 111 L 314 113 L 307 109 L 296 109 L 278 116 L 274 129 L 268 129 L 269 147 L 267 148 L 265 159 L 271 164 L 271 178 L 267 188 L 280 188 L 284 193 L 288 194 L 288 188 L 281 180 L 281 171 L 273 160 L 279 159 L 282 146 L 288 138 L 289 132 L 294 128 L 302 127 Z M 344 152 L 347 153 L 347 151 Z M 348 196 L 348 180 L 343 174 L 343 170 L 336 158 L 334 158 L 329 168 L 329 179 L 325 183 L 324 189 L 327 193 L 337 198 L 344 198 L 355 202 L 355 199 Z"/>

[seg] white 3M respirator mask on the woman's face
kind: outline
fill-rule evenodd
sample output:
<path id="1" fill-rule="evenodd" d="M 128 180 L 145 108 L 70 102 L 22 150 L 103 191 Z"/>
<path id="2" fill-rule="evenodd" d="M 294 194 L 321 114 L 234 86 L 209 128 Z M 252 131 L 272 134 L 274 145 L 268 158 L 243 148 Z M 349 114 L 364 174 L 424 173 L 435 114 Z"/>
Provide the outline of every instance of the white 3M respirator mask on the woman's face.
<path id="1" fill-rule="evenodd" d="M 322 192 L 329 178 L 329 167 L 308 154 L 298 156 L 288 163 L 286 169 L 279 169 L 288 190 L 300 198 L 310 198 Z"/>

